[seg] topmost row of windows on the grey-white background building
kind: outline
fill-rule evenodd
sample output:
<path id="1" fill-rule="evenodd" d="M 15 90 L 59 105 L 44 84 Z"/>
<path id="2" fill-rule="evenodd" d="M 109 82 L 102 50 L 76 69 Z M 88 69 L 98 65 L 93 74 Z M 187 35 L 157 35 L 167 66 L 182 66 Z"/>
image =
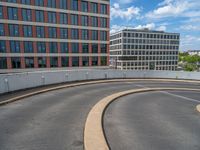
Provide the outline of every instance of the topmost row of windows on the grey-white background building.
<path id="1" fill-rule="evenodd" d="M 129 38 L 157 38 L 157 39 L 179 39 L 179 35 L 175 34 L 155 34 L 155 33 L 119 33 L 116 35 L 112 35 L 110 39 L 116 39 L 120 37 L 129 37 Z"/>

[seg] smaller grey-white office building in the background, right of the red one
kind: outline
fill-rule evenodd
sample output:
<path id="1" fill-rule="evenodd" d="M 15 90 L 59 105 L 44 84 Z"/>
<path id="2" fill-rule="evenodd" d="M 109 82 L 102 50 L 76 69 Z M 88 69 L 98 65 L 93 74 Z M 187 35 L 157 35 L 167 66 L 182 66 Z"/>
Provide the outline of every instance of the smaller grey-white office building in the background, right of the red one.
<path id="1" fill-rule="evenodd" d="M 110 36 L 110 66 L 132 70 L 176 70 L 177 33 L 123 29 Z"/>

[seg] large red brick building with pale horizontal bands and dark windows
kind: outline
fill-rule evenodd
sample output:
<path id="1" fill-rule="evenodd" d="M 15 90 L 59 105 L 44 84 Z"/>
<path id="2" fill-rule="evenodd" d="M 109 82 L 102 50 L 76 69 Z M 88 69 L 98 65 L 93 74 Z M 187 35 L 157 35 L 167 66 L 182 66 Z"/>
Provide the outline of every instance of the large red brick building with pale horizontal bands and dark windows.
<path id="1" fill-rule="evenodd" d="M 107 66 L 109 0 L 0 0 L 0 69 Z"/>

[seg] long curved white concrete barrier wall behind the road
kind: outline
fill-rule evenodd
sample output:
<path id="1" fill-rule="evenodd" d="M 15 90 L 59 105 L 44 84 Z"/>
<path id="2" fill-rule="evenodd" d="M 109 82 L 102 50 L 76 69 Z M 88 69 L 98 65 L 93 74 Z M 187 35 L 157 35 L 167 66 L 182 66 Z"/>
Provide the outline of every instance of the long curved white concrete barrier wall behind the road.
<path id="1" fill-rule="evenodd" d="M 70 81 L 116 78 L 169 78 L 200 80 L 200 72 L 136 70 L 56 70 L 0 74 L 0 94 Z"/>

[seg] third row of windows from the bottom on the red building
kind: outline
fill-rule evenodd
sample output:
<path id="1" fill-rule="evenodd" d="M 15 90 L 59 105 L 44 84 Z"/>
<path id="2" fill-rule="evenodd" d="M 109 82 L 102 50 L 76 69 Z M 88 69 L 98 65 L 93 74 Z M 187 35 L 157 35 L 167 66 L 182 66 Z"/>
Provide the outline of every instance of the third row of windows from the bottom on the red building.
<path id="1" fill-rule="evenodd" d="M 23 25 L 23 36 L 24 37 L 33 37 L 33 26 Z M 19 25 L 17 24 L 9 24 L 9 36 L 20 36 L 19 33 Z M 45 27 L 36 26 L 36 37 L 38 38 L 61 38 L 61 39 L 69 39 L 68 36 L 68 28 L 56 28 L 56 27 L 47 27 L 47 33 L 45 33 Z M 60 30 L 58 32 L 58 29 Z M 81 35 L 79 37 L 79 29 L 70 29 L 70 38 L 71 39 L 82 39 L 82 40 L 98 40 L 100 36 L 100 40 L 107 41 L 107 31 L 100 31 L 100 35 L 98 30 L 91 30 L 91 38 L 89 38 L 89 30 L 82 29 Z M 59 33 L 59 35 L 58 35 Z M 5 35 L 4 24 L 0 24 L 0 36 Z"/>

